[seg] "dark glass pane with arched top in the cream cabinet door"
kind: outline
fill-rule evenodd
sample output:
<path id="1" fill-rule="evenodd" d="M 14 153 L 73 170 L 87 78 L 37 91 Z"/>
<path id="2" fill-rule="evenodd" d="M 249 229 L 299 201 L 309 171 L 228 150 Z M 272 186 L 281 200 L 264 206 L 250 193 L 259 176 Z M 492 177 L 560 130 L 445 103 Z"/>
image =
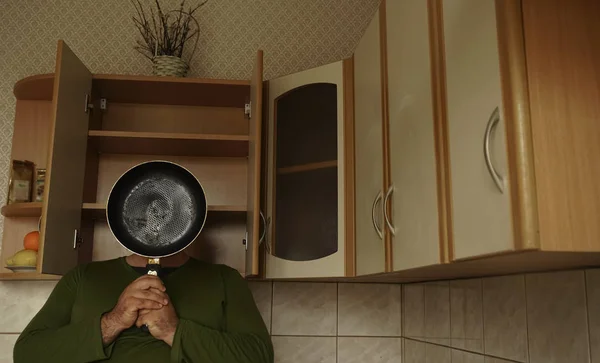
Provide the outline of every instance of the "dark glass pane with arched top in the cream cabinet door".
<path id="1" fill-rule="evenodd" d="M 274 256 L 310 261 L 338 250 L 337 86 L 275 100 Z"/>

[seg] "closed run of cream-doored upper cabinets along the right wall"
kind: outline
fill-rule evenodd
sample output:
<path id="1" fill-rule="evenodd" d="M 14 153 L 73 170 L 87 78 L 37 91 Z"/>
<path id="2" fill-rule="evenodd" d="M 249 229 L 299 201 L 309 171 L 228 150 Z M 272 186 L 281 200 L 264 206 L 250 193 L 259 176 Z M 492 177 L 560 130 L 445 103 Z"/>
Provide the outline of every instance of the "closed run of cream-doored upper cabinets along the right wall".
<path id="1" fill-rule="evenodd" d="M 358 268 L 378 251 L 361 252 L 376 242 L 364 219 L 377 189 L 365 180 L 378 181 L 357 156 L 359 275 L 381 272 L 382 255 L 388 273 L 374 281 L 600 264 L 598 11 L 589 0 L 382 2 L 379 52 L 367 29 L 355 82 L 380 72 L 383 106 L 365 111 L 377 92 L 361 103 L 357 88 L 355 109 L 357 155 L 383 160 L 386 244 L 378 269 Z M 379 112 L 383 155 L 358 135 Z"/>

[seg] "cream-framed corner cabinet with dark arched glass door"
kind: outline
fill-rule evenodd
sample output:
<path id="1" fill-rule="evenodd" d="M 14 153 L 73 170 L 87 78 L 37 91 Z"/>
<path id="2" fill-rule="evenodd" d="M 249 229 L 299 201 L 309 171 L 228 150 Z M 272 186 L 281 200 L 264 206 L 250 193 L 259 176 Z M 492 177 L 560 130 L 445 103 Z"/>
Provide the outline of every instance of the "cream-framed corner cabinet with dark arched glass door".
<path id="1" fill-rule="evenodd" d="M 352 60 L 268 81 L 266 278 L 352 274 L 349 89 Z"/>

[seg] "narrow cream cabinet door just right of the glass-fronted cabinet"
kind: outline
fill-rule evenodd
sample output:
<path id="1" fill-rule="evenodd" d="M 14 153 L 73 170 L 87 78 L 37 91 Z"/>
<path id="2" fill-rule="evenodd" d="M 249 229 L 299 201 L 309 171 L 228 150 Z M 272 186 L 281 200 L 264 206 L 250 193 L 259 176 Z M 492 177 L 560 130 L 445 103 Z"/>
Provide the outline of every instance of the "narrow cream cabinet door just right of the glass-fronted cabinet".
<path id="1" fill-rule="evenodd" d="M 356 273 L 372 274 L 385 271 L 385 243 L 377 234 L 381 231 L 382 202 L 373 204 L 383 191 L 383 115 L 381 104 L 381 43 L 379 12 L 376 12 L 354 51 L 354 132 L 356 185 Z"/>

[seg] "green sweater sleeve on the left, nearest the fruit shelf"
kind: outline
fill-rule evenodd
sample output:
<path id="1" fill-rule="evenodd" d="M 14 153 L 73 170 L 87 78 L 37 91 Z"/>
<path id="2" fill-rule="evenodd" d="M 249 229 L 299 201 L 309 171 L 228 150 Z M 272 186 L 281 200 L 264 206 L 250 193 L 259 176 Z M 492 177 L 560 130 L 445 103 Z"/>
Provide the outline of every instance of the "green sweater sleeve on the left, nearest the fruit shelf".
<path id="1" fill-rule="evenodd" d="M 83 363 L 110 356 L 112 344 L 102 344 L 101 315 L 71 321 L 83 269 L 77 267 L 63 276 L 21 333 L 14 348 L 15 363 Z"/>

